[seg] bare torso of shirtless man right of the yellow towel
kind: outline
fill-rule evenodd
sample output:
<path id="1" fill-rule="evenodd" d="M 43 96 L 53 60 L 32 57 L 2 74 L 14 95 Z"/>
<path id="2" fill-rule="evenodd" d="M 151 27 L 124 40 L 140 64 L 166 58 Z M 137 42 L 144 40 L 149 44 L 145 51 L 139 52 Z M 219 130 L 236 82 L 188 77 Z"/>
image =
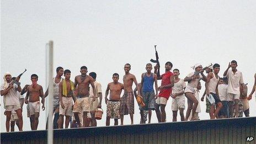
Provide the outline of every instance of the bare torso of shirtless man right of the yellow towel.
<path id="1" fill-rule="evenodd" d="M 82 78 L 81 75 L 76 76 L 74 79 L 74 86 L 76 87 L 77 96 L 80 97 L 89 97 L 89 84 L 93 83 L 92 77 L 86 75 L 85 78 Z"/>

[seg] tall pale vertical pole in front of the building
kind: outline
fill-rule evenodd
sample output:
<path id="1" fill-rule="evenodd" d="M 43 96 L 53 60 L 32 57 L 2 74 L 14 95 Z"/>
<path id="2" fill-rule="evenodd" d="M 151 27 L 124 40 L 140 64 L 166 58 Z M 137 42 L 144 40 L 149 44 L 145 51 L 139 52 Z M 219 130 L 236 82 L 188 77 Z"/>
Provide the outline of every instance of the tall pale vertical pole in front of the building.
<path id="1" fill-rule="evenodd" d="M 54 42 L 53 41 L 49 41 L 49 75 L 48 75 L 48 82 L 49 82 L 49 88 L 48 88 L 48 95 L 50 95 L 49 98 L 49 115 L 48 115 L 48 137 L 47 137 L 47 143 L 48 144 L 52 144 L 54 143 L 54 132 L 53 132 L 53 127 L 52 127 L 52 109 L 54 108 L 54 104 L 53 104 L 53 92 L 54 92 L 54 83 L 52 82 L 52 76 L 53 76 L 53 63 L 54 63 Z"/>

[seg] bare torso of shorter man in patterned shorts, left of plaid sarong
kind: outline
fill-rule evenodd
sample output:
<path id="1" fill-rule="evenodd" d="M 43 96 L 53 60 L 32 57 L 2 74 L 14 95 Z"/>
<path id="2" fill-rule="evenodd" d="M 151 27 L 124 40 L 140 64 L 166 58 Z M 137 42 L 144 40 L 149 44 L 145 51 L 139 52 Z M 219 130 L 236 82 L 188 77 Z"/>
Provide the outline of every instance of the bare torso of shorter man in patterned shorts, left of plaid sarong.
<path id="1" fill-rule="evenodd" d="M 117 84 L 115 84 L 114 82 L 109 83 L 109 90 L 110 90 L 109 100 L 119 101 L 122 89 L 124 89 L 124 84 L 122 83 L 117 83 Z"/>

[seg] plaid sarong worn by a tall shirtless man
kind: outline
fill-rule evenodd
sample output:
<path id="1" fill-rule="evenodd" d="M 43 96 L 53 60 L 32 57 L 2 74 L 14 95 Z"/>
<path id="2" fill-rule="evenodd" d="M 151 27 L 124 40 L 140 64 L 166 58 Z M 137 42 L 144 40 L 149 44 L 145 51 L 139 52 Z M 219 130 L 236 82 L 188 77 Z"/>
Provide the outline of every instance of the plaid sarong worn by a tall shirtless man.
<path id="1" fill-rule="evenodd" d="M 134 93 L 125 93 L 120 99 L 120 115 L 134 114 Z"/>

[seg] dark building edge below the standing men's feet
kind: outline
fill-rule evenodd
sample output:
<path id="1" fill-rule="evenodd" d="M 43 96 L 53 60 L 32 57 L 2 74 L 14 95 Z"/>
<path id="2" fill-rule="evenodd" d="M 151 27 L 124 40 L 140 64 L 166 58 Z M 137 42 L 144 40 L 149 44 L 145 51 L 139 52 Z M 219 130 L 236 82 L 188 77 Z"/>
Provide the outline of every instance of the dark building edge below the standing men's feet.
<path id="1" fill-rule="evenodd" d="M 54 131 L 54 143 L 256 143 L 256 117 Z M 1 143 L 46 143 L 47 131 L 1 133 Z"/>

